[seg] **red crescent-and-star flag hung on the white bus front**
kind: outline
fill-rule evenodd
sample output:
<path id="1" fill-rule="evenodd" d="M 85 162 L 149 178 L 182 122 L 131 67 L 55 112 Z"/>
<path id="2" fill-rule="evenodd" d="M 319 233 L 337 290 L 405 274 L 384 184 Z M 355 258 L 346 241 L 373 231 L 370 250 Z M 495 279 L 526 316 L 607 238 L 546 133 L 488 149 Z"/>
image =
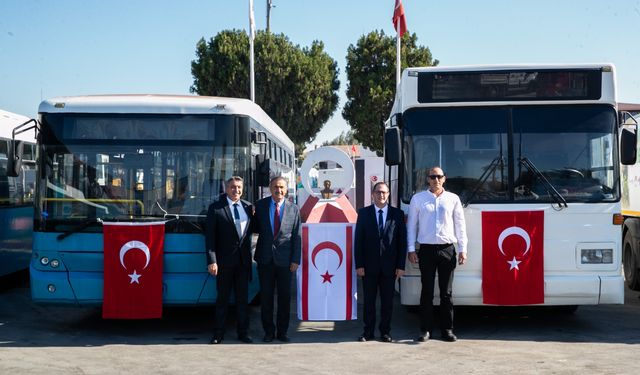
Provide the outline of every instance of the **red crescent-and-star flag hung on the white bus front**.
<path id="1" fill-rule="evenodd" d="M 544 211 L 482 213 L 482 302 L 544 303 Z"/>

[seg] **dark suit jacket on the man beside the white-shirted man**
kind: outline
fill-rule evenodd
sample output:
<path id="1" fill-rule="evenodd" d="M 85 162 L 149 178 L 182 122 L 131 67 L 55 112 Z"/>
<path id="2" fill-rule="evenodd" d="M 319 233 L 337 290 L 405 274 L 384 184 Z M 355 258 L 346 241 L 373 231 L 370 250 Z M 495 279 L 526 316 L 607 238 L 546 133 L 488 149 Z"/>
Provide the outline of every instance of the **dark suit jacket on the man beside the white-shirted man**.
<path id="1" fill-rule="evenodd" d="M 404 212 L 389 206 L 382 238 L 378 231 L 375 205 L 358 210 L 355 234 L 356 268 L 364 267 L 365 275 L 395 275 L 404 270 L 407 256 L 407 226 Z"/>

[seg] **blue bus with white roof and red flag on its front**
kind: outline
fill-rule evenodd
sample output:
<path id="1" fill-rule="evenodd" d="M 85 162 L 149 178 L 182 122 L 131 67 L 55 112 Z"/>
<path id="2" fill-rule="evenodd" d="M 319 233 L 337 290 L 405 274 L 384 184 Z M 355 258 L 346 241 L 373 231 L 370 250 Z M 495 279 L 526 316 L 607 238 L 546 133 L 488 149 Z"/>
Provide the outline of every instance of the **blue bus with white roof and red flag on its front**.
<path id="1" fill-rule="evenodd" d="M 203 236 L 209 204 L 231 176 L 255 201 L 271 176 L 294 170 L 293 142 L 245 99 L 54 98 L 40 104 L 36 130 L 36 302 L 102 303 L 102 223 L 158 220 L 166 220 L 163 303 L 215 302 Z"/>

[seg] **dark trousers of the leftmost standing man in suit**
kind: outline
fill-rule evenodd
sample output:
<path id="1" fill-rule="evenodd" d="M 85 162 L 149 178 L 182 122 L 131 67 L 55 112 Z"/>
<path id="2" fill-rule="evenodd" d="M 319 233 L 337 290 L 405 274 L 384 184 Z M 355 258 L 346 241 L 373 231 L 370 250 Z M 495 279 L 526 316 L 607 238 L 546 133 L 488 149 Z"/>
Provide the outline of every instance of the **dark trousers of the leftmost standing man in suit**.
<path id="1" fill-rule="evenodd" d="M 219 267 L 216 276 L 216 328 L 215 335 L 224 337 L 225 323 L 227 320 L 227 310 L 231 291 L 236 296 L 236 320 L 238 336 L 246 336 L 249 332 L 249 275 L 251 268 L 246 266 Z"/>

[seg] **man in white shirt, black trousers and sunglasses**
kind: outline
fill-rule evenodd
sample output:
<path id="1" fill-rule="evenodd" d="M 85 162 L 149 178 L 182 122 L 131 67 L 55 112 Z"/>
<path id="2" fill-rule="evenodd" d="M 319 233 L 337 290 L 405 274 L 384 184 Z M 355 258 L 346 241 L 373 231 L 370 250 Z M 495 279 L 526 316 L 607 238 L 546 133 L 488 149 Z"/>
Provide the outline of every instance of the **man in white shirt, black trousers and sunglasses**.
<path id="1" fill-rule="evenodd" d="M 467 232 L 460 198 L 444 190 L 446 181 L 440 167 L 429 170 L 429 190 L 415 194 L 409 204 L 407 251 L 411 263 L 419 262 L 420 335 L 424 342 L 433 331 L 433 291 L 436 272 L 440 291 L 440 332 L 444 341 L 456 341 L 453 334 L 451 301 L 453 271 L 467 260 Z M 416 251 L 416 243 L 419 249 Z M 455 246 L 456 244 L 457 246 Z"/>

